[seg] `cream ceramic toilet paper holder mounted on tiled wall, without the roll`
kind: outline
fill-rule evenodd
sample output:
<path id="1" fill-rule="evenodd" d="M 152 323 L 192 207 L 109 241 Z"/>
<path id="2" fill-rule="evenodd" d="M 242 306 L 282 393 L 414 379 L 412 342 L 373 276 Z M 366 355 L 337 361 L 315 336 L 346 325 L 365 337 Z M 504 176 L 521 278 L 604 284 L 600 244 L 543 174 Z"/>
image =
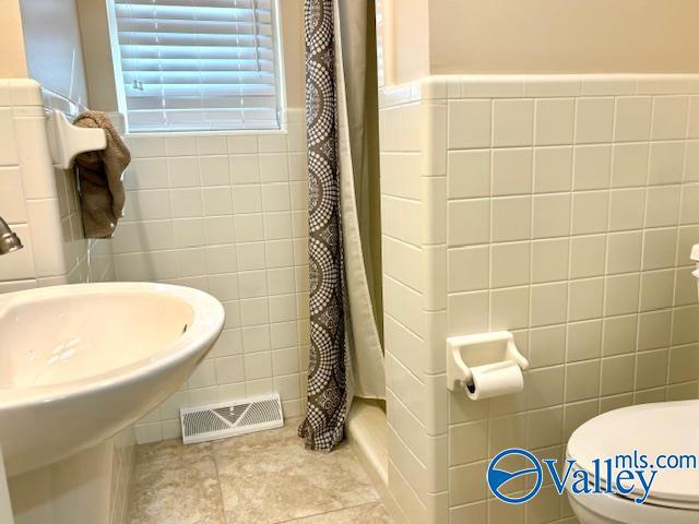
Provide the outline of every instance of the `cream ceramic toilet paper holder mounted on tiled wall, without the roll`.
<path id="1" fill-rule="evenodd" d="M 509 361 L 521 370 L 529 368 L 529 360 L 519 352 L 509 331 L 451 336 L 447 338 L 447 388 L 451 391 L 471 388 L 471 368 Z"/>

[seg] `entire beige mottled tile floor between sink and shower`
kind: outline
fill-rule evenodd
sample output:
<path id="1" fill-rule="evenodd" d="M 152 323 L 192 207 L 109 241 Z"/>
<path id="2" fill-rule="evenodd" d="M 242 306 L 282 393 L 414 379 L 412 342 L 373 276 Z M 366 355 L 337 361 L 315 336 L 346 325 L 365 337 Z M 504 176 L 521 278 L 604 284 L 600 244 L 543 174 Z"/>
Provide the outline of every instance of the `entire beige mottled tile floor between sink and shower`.
<path id="1" fill-rule="evenodd" d="M 307 451 L 297 426 L 139 446 L 131 524 L 392 523 L 352 450 Z"/>

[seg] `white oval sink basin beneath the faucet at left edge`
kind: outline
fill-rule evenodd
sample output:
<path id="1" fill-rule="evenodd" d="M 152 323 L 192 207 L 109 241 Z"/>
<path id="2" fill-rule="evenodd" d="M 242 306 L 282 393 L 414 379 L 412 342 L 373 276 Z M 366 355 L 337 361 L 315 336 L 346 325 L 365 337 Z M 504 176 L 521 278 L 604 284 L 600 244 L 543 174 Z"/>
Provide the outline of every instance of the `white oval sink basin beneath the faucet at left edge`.
<path id="1" fill-rule="evenodd" d="M 175 392 L 223 329 L 210 295 L 81 284 L 0 295 L 0 449 L 9 476 L 67 458 Z"/>

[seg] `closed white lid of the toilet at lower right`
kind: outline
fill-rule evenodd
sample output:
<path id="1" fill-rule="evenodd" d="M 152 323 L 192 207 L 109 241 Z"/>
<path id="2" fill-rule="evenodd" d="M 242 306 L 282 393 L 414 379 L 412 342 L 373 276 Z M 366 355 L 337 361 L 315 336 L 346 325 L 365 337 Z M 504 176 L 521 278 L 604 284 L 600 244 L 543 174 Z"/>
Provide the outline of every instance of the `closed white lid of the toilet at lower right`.
<path id="1" fill-rule="evenodd" d="M 659 455 L 694 455 L 699 453 L 699 401 L 661 402 L 614 409 L 588 420 L 568 441 L 568 458 L 576 467 L 607 481 L 607 468 L 595 469 L 594 461 L 617 455 L 633 455 L 638 450 L 655 463 Z M 697 458 L 699 461 L 699 457 Z M 613 476 L 616 477 L 614 467 Z M 641 495 L 636 493 L 633 495 Z M 699 468 L 657 469 L 650 499 L 667 502 L 699 502 Z M 672 505 L 672 504 L 670 504 Z"/>

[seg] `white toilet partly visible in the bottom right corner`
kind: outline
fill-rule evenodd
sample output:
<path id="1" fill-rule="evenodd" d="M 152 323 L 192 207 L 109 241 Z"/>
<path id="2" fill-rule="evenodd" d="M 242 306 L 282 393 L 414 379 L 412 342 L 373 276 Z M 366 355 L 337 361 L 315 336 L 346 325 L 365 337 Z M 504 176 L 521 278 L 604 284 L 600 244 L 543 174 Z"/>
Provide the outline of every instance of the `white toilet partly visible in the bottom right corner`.
<path id="1" fill-rule="evenodd" d="M 699 279 L 699 245 L 692 248 L 691 259 L 698 262 L 694 275 Z M 633 450 L 653 463 L 661 454 L 699 455 L 699 400 L 643 404 L 600 415 L 572 433 L 566 455 L 576 461 L 576 468 L 588 473 L 590 484 L 604 487 L 609 473 L 616 477 L 617 472 L 595 469 L 592 461 L 628 455 Z M 627 496 L 587 495 L 574 493 L 571 486 L 568 483 L 566 491 L 580 524 L 699 523 L 699 469 L 657 469 L 642 504 L 635 499 L 643 489 Z"/>

